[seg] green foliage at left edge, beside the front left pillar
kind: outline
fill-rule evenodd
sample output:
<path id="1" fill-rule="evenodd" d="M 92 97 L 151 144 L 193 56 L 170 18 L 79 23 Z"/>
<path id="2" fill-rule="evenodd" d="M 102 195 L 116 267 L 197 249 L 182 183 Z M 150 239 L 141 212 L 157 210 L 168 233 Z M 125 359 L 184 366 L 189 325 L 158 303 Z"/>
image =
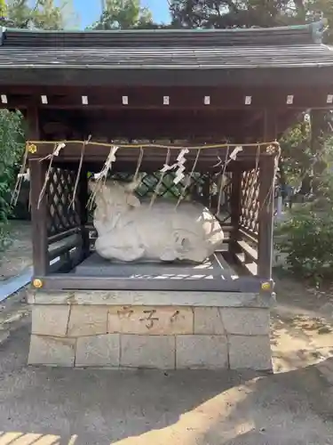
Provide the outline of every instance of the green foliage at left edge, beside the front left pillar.
<path id="1" fill-rule="evenodd" d="M 15 172 L 24 152 L 22 115 L 8 109 L 0 110 L 0 249 L 6 245 L 8 217 L 12 207 L 8 191 L 15 182 Z"/>

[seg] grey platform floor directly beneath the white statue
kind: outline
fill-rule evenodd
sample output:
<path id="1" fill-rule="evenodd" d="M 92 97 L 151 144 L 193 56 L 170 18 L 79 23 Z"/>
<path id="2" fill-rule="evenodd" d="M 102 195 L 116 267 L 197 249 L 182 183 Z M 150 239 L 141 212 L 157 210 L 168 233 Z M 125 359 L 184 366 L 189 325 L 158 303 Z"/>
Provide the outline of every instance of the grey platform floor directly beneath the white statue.
<path id="1" fill-rule="evenodd" d="M 75 268 L 81 277 L 123 279 L 236 279 L 238 275 L 222 254 L 214 254 L 202 264 L 194 263 L 119 263 L 109 262 L 97 253 Z"/>

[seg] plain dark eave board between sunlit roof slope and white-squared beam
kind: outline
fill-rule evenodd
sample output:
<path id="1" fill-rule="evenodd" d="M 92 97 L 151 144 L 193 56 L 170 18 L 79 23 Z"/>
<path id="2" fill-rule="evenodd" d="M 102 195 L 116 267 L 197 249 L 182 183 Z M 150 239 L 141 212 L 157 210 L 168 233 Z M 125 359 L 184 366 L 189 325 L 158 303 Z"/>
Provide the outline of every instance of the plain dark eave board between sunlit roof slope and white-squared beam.
<path id="1" fill-rule="evenodd" d="M 301 50 L 300 50 L 301 51 Z M 268 64 L 267 64 L 268 65 Z M 117 85 L 123 87 L 150 86 L 170 88 L 178 87 L 262 87 L 274 88 L 275 85 L 290 89 L 302 86 L 312 89 L 317 85 L 329 87 L 332 85 L 332 67 L 327 65 L 313 65 L 272 68 L 263 66 L 260 69 L 249 67 L 234 67 L 221 69 L 221 67 L 210 67 L 210 69 L 182 69 L 158 68 L 144 69 L 142 66 L 128 69 L 127 67 L 109 69 L 101 67 L 75 67 L 75 66 L 40 66 L 38 69 L 31 66 L 29 61 L 26 65 L 15 66 L 14 64 L 3 65 L 0 70 L 0 85 L 31 85 L 48 86 L 55 85 L 100 87 L 101 85 Z"/>

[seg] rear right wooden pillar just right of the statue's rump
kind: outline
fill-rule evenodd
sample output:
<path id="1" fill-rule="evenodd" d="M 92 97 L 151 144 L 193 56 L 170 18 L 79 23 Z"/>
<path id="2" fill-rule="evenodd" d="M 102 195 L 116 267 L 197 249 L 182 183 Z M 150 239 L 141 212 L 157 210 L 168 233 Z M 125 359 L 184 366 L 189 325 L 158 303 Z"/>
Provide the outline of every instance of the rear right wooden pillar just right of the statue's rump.
<path id="1" fill-rule="evenodd" d="M 239 235 L 239 224 L 241 216 L 241 191 L 242 172 L 240 170 L 235 170 L 232 173 L 230 197 L 232 230 L 230 231 L 229 252 L 231 254 L 237 254 L 240 251 L 237 245 L 237 240 Z"/>

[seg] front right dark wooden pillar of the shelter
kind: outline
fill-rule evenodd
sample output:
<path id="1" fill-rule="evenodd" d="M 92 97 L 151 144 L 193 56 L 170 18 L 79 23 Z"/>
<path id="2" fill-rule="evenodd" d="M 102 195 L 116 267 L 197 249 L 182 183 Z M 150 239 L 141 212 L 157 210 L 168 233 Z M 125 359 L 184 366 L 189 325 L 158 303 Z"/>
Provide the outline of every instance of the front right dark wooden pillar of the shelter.
<path id="1" fill-rule="evenodd" d="M 264 141 L 276 140 L 276 114 L 265 110 Z M 259 159 L 258 276 L 271 279 L 273 266 L 275 158 Z"/>

